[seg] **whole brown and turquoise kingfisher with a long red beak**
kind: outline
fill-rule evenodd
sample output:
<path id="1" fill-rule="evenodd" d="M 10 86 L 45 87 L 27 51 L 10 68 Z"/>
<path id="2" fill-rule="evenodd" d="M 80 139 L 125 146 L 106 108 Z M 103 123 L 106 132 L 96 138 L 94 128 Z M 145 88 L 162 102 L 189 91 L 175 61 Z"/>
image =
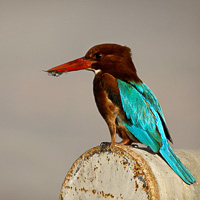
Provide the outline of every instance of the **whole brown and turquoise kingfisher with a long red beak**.
<path id="1" fill-rule="evenodd" d="M 131 49 L 113 43 L 98 44 L 84 57 L 46 72 L 59 76 L 83 69 L 95 73 L 93 93 L 97 108 L 109 128 L 110 147 L 116 144 L 116 134 L 122 139 L 122 145 L 142 143 L 161 155 L 185 183 L 196 182 L 169 144 L 173 141 L 161 106 L 152 90 L 139 78 Z"/>

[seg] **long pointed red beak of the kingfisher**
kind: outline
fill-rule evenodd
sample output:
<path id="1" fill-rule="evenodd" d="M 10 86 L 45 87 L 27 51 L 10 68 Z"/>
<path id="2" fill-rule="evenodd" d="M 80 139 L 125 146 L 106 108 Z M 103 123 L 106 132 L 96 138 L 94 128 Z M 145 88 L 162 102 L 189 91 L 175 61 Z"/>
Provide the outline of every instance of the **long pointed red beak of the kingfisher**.
<path id="1" fill-rule="evenodd" d="M 64 63 L 62 65 L 53 67 L 53 68 L 47 70 L 47 72 L 49 72 L 53 76 L 59 76 L 64 72 L 88 69 L 91 67 L 92 63 L 94 63 L 94 61 L 87 60 L 84 57 L 82 57 L 82 58 L 78 58 L 76 60 Z"/>

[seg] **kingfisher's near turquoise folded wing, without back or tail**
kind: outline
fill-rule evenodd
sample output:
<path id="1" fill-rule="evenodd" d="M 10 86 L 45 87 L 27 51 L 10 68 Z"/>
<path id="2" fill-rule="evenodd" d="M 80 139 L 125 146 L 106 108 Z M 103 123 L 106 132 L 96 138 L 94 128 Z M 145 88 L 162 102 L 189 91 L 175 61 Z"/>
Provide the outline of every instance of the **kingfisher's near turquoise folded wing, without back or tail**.
<path id="1" fill-rule="evenodd" d="M 155 109 L 132 84 L 119 79 L 117 82 L 123 110 L 131 121 L 131 123 L 122 122 L 129 130 L 128 134 L 133 134 L 140 142 L 149 146 L 154 152 L 158 152 L 162 146 L 158 129 L 161 120 L 155 114 Z M 131 135 L 129 137 L 131 138 Z"/>

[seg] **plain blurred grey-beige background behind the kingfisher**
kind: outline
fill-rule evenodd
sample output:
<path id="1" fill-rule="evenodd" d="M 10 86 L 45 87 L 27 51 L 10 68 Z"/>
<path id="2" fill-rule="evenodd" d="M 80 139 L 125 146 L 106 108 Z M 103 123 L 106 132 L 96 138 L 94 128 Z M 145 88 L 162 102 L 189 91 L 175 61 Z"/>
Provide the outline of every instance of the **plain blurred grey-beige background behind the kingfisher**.
<path id="1" fill-rule="evenodd" d="M 80 154 L 110 141 L 94 74 L 42 71 L 96 44 L 132 49 L 173 148 L 199 148 L 199 10 L 199 0 L 0 0 L 0 199 L 58 199 Z"/>

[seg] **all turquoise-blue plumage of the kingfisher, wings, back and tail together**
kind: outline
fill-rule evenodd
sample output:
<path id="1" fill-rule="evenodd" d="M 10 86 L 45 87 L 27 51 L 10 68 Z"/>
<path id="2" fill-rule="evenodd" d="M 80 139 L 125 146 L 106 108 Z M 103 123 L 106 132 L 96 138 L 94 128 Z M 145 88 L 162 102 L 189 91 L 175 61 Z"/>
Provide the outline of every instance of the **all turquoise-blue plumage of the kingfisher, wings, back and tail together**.
<path id="1" fill-rule="evenodd" d="M 130 138 L 134 135 L 140 142 L 149 146 L 154 152 L 160 152 L 170 167 L 187 184 L 196 179 L 181 163 L 172 151 L 167 138 L 169 134 L 162 109 L 153 92 L 144 83 L 124 82 L 117 79 L 120 98 L 126 117 L 132 124 L 122 123 L 127 128 Z"/>

